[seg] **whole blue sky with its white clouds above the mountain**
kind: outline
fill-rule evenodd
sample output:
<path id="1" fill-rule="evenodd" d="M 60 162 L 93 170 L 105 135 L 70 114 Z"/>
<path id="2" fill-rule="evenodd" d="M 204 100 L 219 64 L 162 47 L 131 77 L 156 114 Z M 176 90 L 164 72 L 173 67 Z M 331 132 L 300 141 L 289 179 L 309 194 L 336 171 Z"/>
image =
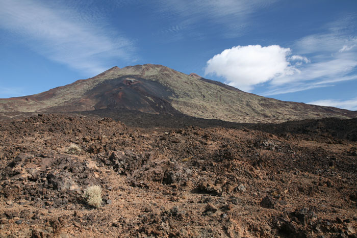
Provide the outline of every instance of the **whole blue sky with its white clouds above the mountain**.
<path id="1" fill-rule="evenodd" d="M 0 98 L 161 64 L 357 110 L 357 1 L 0 0 Z"/>

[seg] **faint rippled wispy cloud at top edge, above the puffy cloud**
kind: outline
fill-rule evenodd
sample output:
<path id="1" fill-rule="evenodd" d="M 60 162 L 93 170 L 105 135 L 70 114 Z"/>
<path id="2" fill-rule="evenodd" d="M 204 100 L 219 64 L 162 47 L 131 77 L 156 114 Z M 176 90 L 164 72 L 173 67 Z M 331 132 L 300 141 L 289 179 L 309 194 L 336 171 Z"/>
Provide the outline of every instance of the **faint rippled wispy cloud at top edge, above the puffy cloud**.
<path id="1" fill-rule="evenodd" d="M 278 0 L 165 0 L 156 4 L 156 11 L 170 19 L 175 24 L 164 32 L 179 31 L 197 34 L 197 29 L 210 25 L 210 33 L 219 32 L 232 38 L 242 35 L 248 27 L 248 18 L 259 9 L 265 8 Z M 251 22 L 250 22 L 251 23 Z M 172 31 L 170 31 L 172 30 Z"/>

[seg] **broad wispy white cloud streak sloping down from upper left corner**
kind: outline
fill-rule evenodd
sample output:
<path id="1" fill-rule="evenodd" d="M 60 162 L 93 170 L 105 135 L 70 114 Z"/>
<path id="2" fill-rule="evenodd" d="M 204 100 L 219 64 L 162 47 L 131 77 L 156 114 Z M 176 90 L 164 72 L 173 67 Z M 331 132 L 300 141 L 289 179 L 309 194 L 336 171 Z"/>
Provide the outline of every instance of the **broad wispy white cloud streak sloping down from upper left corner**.
<path id="1" fill-rule="evenodd" d="M 100 21 L 98 12 L 76 11 L 61 2 L 0 0 L 0 28 L 38 54 L 92 75 L 112 59 L 130 60 L 133 42 Z"/>

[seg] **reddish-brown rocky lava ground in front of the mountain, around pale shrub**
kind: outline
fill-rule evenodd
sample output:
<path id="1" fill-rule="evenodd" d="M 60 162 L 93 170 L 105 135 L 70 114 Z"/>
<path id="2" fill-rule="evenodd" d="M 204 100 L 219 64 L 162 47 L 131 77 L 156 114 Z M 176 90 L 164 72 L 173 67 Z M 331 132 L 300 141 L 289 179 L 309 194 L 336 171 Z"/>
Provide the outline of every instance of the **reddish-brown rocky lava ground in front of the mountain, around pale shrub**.
<path id="1" fill-rule="evenodd" d="M 275 127 L 2 121 L 0 237 L 357 237 L 353 135 Z"/>

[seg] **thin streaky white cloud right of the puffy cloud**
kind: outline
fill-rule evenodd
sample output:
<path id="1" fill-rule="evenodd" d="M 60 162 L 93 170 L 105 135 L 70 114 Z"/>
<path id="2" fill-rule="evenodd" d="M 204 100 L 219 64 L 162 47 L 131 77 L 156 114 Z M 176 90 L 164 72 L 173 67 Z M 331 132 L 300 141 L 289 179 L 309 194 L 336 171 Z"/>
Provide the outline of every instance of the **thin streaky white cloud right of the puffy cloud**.
<path id="1" fill-rule="evenodd" d="M 338 82 L 357 80 L 357 36 L 354 25 L 345 19 L 330 23 L 323 33 L 303 37 L 292 45 L 308 61 L 297 65 L 291 75 L 275 77 L 264 96 L 331 87 Z M 352 21 L 353 22 L 353 21 Z"/>

